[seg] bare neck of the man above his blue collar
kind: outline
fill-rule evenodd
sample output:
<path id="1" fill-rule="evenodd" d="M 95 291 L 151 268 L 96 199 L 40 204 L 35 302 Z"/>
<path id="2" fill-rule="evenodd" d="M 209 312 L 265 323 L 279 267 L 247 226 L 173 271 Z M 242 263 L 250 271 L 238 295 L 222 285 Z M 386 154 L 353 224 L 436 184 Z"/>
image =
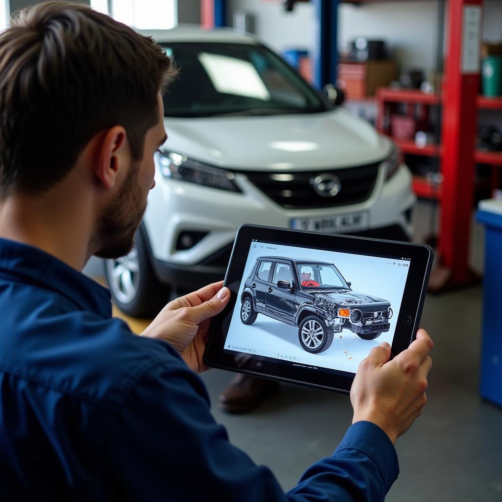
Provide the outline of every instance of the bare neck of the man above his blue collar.
<path id="1" fill-rule="evenodd" d="M 63 191 L 61 197 L 51 195 L 51 205 L 49 197 L 21 194 L 0 201 L 0 237 L 38 247 L 81 271 L 89 259 L 92 220 L 87 208 L 78 210 L 77 201 L 69 205 L 67 198 Z"/>

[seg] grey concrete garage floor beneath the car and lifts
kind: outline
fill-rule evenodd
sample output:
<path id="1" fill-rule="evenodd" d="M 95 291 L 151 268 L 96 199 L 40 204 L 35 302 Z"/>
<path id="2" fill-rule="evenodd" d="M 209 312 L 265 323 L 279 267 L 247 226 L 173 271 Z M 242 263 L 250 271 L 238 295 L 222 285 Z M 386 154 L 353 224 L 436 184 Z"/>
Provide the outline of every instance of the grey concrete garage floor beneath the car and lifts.
<path id="1" fill-rule="evenodd" d="M 418 205 L 417 241 L 429 232 L 432 208 L 427 202 Z M 478 270 L 482 254 L 483 230 L 474 223 L 471 256 Z M 86 269 L 91 275 L 95 270 L 92 264 Z M 427 296 L 422 326 L 435 341 L 429 402 L 398 440 L 401 474 L 389 502 L 502 500 L 502 409 L 478 396 L 481 309 L 481 286 Z M 231 376 L 216 369 L 202 375 L 214 416 L 235 445 L 272 468 L 285 489 L 311 463 L 330 455 L 350 424 L 348 396 L 293 385 L 282 385 L 252 413 L 224 414 L 215 403 Z"/>

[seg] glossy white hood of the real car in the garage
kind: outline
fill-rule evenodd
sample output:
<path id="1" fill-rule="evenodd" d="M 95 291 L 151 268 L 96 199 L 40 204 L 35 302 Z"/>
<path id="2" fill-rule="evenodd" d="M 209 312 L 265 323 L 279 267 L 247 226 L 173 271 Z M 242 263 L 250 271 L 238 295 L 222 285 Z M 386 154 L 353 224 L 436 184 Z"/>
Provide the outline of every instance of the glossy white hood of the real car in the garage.
<path id="1" fill-rule="evenodd" d="M 163 149 L 241 171 L 307 171 L 382 161 L 388 139 L 342 108 L 267 116 L 165 117 Z"/>

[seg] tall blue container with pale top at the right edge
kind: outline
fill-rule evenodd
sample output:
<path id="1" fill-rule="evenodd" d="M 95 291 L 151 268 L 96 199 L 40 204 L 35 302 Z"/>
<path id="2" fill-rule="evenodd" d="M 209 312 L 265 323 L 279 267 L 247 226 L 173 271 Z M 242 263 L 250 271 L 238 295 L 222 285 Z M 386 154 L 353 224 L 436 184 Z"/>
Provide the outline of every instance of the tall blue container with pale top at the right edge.
<path id="1" fill-rule="evenodd" d="M 486 230 L 480 394 L 502 407 L 502 200 L 482 200 L 476 218 Z"/>

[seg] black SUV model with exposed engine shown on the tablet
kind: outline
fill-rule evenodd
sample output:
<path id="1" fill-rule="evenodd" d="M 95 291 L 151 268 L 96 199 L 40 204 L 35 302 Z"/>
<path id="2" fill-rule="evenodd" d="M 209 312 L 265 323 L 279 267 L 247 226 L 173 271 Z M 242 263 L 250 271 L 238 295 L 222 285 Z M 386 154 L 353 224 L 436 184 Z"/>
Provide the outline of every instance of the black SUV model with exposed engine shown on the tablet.
<path id="1" fill-rule="evenodd" d="M 253 324 L 260 313 L 297 326 L 302 348 L 314 354 L 344 328 L 365 340 L 389 331 L 391 304 L 350 286 L 332 263 L 263 256 L 244 284 L 240 320 Z"/>

